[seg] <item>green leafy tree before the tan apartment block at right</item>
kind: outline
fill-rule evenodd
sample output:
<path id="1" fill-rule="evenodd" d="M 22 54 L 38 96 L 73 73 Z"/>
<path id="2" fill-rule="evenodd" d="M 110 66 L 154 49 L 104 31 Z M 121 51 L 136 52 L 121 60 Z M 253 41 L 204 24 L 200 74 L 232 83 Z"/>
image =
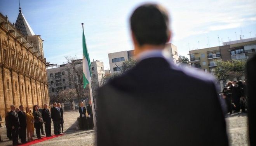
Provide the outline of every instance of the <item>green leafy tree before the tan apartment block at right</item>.
<path id="1" fill-rule="evenodd" d="M 239 78 L 245 76 L 245 68 L 245 60 L 217 61 L 215 75 L 218 80 Z"/>

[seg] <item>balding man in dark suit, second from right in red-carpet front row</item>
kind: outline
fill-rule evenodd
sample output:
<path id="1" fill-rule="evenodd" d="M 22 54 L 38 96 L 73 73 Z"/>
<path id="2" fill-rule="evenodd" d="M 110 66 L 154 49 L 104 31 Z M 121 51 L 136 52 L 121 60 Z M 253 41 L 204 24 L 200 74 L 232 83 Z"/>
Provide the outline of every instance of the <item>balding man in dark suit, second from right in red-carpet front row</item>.
<path id="1" fill-rule="evenodd" d="M 46 137 L 51 137 L 51 113 L 48 109 L 48 104 L 44 104 L 44 109 L 42 110 L 42 116 L 44 120 L 44 128 Z"/>

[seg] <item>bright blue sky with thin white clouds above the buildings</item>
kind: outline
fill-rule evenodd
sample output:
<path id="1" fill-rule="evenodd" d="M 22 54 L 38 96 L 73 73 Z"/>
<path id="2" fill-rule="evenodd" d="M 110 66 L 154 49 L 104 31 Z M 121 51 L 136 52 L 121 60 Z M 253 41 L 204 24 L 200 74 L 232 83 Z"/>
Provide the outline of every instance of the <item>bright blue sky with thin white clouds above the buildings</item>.
<path id="1" fill-rule="evenodd" d="M 82 25 L 91 61 L 108 53 L 132 50 L 129 17 L 145 0 L 20 0 L 21 10 L 35 34 L 44 39 L 47 62 L 61 65 L 64 56 L 82 58 Z M 222 42 L 256 37 L 255 0 L 151 0 L 163 5 L 171 18 L 171 43 L 178 54 Z M 19 14 L 18 0 L 0 0 L 0 12 L 10 22 Z M 219 41 L 218 41 L 219 36 Z M 209 40 L 209 41 L 208 41 Z"/>

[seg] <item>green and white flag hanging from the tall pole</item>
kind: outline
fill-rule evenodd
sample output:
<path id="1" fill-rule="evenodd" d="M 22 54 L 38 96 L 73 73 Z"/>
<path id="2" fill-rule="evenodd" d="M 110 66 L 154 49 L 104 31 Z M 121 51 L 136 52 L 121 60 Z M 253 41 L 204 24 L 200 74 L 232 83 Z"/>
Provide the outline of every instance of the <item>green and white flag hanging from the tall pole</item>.
<path id="1" fill-rule="evenodd" d="M 83 79 L 84 79 L 84 88 L 88 83 L 91 82 L 91 62 L 89 58 L 89 54 L 87 51 L 86 47 L 86 42 L 85 42 L 85 36 L 84 36 L 84 24 L 83 25 Z"/>

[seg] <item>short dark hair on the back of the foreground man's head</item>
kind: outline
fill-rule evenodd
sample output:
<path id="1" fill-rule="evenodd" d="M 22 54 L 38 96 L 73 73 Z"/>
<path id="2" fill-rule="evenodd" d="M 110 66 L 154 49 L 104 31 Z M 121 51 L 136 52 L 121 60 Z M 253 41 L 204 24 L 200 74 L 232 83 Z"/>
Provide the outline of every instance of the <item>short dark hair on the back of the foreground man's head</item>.
<path id="1" fill-rule="evenodd" d="M 160 5 L 147 3 L 139 6 L 133 12 L 130 24 L 140 46 L 162 45 L 168 41 L 169 16 Z"/>

